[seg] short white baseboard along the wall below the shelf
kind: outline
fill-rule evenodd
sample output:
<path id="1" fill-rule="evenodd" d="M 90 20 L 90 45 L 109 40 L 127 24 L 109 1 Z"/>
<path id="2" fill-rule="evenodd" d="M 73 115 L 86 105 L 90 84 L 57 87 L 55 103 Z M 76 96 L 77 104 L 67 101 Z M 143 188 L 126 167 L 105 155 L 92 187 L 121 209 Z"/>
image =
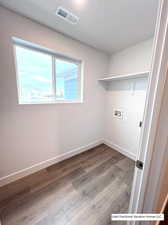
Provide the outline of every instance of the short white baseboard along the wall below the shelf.
<path id="1" fill-rule="evenodd" d="M 126 157 L 128 157 L 134 161 L 136 160 L 136 155 L 128 152 L 126 149 L 123 149 L 119 145 L 116 145 L 107 139 L 104 139 L 103 143 L 106 144 L 107 146 L 109 146 L 110 148 L 113 148 L 114 150 L 120 152 L 121 154 L 125 155 Z"/>

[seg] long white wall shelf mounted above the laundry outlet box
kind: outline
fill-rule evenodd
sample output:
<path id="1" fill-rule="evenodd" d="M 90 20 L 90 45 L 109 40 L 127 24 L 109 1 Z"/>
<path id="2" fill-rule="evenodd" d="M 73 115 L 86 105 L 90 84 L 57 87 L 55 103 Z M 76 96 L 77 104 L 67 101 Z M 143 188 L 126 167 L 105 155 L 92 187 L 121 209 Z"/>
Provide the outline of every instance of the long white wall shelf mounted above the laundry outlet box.
<path id="1" fill-rule="evenodd" d="M 112 75 L 110 77 L 101 78 L 98 81 L 113 81 L 113 80 L 127 80 L 127 79 L 135 79 L 135 78 L 143 78 L 148 77 L 149 71 L 139 72 L 139 73 L 130 73 L 130 74 L 120 74 L 120 75 Z"/>

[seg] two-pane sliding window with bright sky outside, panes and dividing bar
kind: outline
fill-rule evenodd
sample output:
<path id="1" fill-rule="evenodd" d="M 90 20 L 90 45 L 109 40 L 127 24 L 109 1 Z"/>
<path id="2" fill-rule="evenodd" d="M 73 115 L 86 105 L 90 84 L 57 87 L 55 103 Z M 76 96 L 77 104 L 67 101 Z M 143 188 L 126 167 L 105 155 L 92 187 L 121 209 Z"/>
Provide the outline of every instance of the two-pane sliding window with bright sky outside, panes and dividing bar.
<path id="1" fill-rule="evenodd" d="M 20 104 L 81 102 L 81 61 L 14 43 Z"/>

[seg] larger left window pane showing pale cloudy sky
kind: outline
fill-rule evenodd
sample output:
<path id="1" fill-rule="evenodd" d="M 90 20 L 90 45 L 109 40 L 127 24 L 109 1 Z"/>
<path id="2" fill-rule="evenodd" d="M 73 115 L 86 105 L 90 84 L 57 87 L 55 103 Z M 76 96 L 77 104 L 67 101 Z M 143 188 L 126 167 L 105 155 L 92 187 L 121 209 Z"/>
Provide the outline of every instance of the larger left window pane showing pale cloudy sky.
<path id="1" fill-rule="evenodd" d="M 52 100 L 52 57 L 16 46 L 16 60 L 20 102 Z"/>

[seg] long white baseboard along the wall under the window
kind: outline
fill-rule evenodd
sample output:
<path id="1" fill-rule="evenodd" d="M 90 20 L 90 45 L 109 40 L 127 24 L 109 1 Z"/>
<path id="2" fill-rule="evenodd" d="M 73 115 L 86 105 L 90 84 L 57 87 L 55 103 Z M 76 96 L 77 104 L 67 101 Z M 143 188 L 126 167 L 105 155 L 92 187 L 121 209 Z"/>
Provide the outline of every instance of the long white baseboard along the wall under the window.
<path id="1" fill-rule="evenodd" d="M 51 165 L 53 165 L 55 163 L 58 163 L 60 161 L 65 160 L 65 159 L 68 159 L 68 158 L 70 158 L 72 156 L 78 155 L 78 154 L 80 154 L 80 153 L 82 153 L 84 151 L 92 149 L 92 148 L 94 148 L 94 147 L 96 147 L 96 146 L 98 146 L 98 145 L 100 145 L 102 143 L 103 143 L 102 139 L 94 141 L 94 142 L 92 142 L 92 143 L 90 143 L 88 145 L 81 146 L 81 147 L 79 147 L 77 149 L 74 149 L 72 151 L 69 151 L 67 153 L 61 154 L 61 155 L 56 156 L 54 158 L 51 158 L 51 159 L 48 159 L 48 160 L 43 161 L 41 163 L 35 164 L 35 165 L 31 166 L 31 167 L 28 167 L 28 168 L 25 168 L 23 170 L 20 170 L 20 171 L 17 171 L 15 173 L 12 173 L 12 174 L 10 174 L 8 176 L 2 177 L 2 178 L 0 178 L 0 187 L 4 186 L 6 184 L 9 184 L 9 183 L 11 183 L 13 181 L 16 181 L 16 180 L 18 180 L 20 178 L 23 178 L 25 176 L 28 176 L 28 175 L 30 175 L 32 173 L 38 172 L 39 170 L 45 169 L 48 166 L 51 166 Z"/>

